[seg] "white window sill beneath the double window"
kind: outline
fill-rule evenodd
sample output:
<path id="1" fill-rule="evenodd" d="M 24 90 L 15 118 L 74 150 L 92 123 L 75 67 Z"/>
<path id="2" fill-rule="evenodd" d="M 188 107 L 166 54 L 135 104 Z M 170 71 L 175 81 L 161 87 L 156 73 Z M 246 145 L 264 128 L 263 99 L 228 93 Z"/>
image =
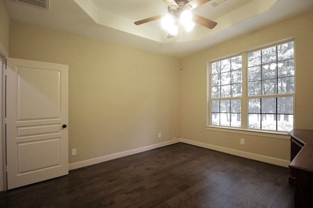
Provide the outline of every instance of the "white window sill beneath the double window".
<path id="1" fill-rule="evenodd" d="M 205 126 L 206 130 L 217 131 L 217 132 L 227 132 L 227 133 L 239 133 L 254 136 L 263 136 L 277 139 L 290 140 L 290 135 L 288 132 L 271 132 L 271 131 L 260 131 L 252 129 L 240 129 L 240 128 L 229 128 L 220 126 Z"/>

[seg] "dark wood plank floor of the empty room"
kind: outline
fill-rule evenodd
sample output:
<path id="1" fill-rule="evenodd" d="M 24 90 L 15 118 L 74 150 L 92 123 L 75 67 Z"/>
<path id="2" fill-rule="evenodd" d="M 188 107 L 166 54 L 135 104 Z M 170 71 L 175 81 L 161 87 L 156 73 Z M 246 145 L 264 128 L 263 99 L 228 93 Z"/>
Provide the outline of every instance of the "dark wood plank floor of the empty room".
<path id="1" fill-rule="evenodd" d="M 289 169 L 187 144 L 0 193 L 0 207 L 292 208 Z"/>

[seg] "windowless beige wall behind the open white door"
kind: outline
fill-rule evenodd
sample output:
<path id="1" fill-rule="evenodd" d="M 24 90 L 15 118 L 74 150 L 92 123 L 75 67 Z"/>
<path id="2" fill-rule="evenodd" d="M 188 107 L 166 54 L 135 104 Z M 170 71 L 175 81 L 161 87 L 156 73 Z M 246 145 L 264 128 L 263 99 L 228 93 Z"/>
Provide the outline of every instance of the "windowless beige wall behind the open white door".
<path id="1" fill-rule="evenodd" d="M 180 136 L 179 59 L 16 21 L 9 42 L 10 57 L 69 65 L 69 163 Z"/>

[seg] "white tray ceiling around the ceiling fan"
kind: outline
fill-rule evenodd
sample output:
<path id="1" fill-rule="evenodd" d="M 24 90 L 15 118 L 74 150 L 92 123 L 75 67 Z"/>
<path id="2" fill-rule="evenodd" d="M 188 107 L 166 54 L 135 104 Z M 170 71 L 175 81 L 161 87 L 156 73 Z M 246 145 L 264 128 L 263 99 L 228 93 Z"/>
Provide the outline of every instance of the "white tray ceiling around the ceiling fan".
<path id="1" fill-rule="evenodd" d="M 218 25 L 196 25 L 167 38 L 160 20 L 142 25 L 134 21 L 168 13 L 163 0 L 49 0 L 49 10 L 3 0 L 10 19 L 102 39 L 117 44 L 185 57 L 242 34 L 313 9 L 313 0 L 211 0 L 192 12 Z M 211 4 L 222 1 L 214 7 Z"/>

